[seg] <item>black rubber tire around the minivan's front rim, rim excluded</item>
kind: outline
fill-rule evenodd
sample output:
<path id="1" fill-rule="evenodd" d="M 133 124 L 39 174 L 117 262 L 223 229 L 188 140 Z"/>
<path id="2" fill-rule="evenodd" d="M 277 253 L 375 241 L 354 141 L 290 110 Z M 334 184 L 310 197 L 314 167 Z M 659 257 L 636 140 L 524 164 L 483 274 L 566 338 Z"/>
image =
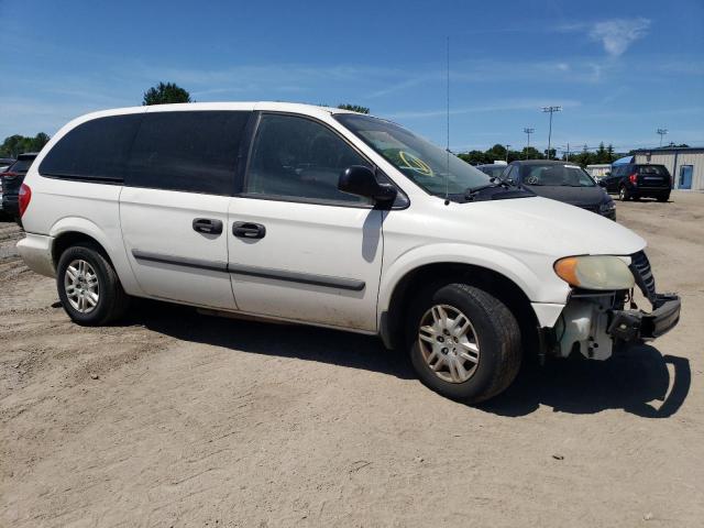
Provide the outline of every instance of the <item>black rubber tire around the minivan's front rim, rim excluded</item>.
<path id="1" fill-rule="evenodd" d="M 436 305 L 448 305 L 470 319 L 479 342 L 473 375 L 461 383 L 441 380 L 424 358 L 418 330 L 424 315 Z M 491 294 L 466 284 L 449 284 L 420 294 L 406 322 L 410 359 L 424 385 L 455 400 L 476 404 L 496 396 L 518 374 L 521 361 L 520 329 L 509 309 Z"/>

